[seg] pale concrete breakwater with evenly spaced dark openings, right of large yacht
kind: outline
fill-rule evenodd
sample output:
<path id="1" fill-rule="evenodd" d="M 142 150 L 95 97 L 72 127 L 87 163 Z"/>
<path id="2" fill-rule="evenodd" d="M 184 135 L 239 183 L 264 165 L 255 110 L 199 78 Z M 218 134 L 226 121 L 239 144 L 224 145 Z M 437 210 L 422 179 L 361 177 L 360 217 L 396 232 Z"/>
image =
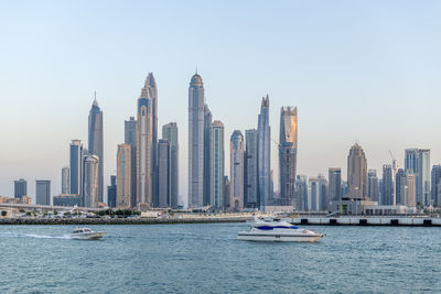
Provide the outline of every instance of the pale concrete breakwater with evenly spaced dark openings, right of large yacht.
<path id="1" fill-rule="evenodd" d="M 409 226 L 441 227 L 441 218 L 431 217 L 341 217 L 341 218 L 289 218 L 299 226 Z"/>

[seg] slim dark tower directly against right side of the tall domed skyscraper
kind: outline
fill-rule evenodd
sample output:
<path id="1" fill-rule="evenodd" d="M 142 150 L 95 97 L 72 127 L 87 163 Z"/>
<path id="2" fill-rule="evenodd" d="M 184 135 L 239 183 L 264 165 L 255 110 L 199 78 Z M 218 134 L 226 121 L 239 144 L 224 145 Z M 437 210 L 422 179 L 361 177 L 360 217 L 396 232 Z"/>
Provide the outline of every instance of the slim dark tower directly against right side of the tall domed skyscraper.
<path id="1" fill-rule="evenodd" d="M 207 105 L 204 106 L 204 205 L 213 205 L 211 202 L 209 195 L 211 195 L 211 170 L 209 170 L 209 163 L 211 163 L 211 131 L 212 131 L 212 121 L 213 121 L 213 116 L 212 111 L 209 111 L 209 108 Z"/>

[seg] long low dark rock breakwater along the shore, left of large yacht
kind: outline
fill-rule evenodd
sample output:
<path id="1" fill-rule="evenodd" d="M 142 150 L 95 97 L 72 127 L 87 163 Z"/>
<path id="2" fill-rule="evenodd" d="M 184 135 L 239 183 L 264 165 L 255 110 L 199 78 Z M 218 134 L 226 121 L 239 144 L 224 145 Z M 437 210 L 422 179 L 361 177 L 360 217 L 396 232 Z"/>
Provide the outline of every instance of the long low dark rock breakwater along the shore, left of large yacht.
<path id="1" fill-rule="evenodd" d="M 185 218 L 1 218 L 1 225 L 172 225 L 245 222 L 246 217 L 185 217 Z"/>

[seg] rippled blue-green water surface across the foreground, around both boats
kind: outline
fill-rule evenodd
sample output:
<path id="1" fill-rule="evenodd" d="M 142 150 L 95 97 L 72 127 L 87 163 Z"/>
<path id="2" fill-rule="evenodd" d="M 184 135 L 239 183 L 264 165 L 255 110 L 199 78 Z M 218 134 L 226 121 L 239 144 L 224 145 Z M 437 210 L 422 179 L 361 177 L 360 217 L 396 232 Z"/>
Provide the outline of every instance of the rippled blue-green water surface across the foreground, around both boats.
<path id="1" fill-rule="evenodd" d="M 441 228 L 316 227 L 318 243 L 237 241 L 245 224 L 0 227 L 0 293 L 441 292 Z"/>

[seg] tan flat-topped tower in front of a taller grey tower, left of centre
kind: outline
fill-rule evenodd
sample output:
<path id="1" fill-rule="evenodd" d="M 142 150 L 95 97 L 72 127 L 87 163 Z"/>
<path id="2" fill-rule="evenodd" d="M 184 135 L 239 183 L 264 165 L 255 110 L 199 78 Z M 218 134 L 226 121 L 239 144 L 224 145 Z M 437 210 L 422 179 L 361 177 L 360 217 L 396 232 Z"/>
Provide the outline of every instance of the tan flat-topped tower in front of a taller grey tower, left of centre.
<path id="1" fill-rule="evenodd" d="M 131 205 L 131 146 L 119 144 L 117 151 L 117 208 L 130 208 Z"/>

